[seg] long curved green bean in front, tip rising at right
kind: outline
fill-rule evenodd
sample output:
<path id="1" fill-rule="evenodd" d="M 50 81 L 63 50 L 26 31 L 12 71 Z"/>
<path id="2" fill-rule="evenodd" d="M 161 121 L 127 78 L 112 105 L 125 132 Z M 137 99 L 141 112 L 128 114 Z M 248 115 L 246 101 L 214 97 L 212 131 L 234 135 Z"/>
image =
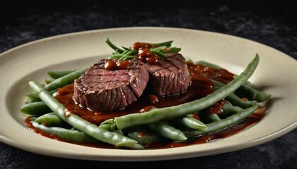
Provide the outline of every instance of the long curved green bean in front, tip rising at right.
<path id="1" fill-rule="evenodd" d="M 133 125 L 148 124 L 156 122 L 158 120 L 181 117 L 182 115 L 187 115 L 189 113 L 197 112 L 199 110 L 207 108 L 211 105 L 216 104 L 217 101 L 225 98 L 229 94 L 235 92 L 238 87 L 245 83 L 248 78 L 254 73 L 259 60 L 260 57 L 256 55 L 255 58 L 253 58 L 252 61 L 248 64 L 247 68 L 245 68 L 243 73 L 238 75 L 238 77 L 236 77 L 225 86 L 203 97 L 202 99 L 197 99 L 195 101 L 186 104 L 180 104 L 178 106 L 153 108 L 151 109 L 151 111 L 148 111 L 146 113 L 132 113 L 129 115 L 123 115 L 121 117 L 114 118 L 113 122 L 115 123 L 115 125 L 117 125 L 117 128 L 119 130 L 122 130 Z"/>

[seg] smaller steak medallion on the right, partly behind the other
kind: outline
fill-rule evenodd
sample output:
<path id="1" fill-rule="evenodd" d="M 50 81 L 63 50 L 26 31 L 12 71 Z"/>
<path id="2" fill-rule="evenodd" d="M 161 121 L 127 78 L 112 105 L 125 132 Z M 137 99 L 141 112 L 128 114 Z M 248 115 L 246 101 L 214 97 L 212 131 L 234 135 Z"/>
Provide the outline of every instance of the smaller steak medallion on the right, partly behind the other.
<path id="1" fill-rule="evenodd" d="M 191 75 L 181 54 L 168 54 L 168 58 L 160 58 L 155 64 L 146 63 L 146 68 L 149 86 L 158 96 L 180 94 L 191 84 Z"/>

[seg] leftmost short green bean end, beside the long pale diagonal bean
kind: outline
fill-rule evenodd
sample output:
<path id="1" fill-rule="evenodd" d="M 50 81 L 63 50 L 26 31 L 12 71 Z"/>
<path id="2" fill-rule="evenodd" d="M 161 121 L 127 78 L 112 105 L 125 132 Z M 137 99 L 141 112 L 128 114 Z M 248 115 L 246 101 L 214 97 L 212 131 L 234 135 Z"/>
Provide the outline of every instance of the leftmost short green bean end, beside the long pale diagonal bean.
<path id="1" fill-rule="evenodd" d="M 43 101 L 24 104 L 20 111 L 28 115 L 44 115 L 45 113 L 52 112 L 52 110 Z"/>

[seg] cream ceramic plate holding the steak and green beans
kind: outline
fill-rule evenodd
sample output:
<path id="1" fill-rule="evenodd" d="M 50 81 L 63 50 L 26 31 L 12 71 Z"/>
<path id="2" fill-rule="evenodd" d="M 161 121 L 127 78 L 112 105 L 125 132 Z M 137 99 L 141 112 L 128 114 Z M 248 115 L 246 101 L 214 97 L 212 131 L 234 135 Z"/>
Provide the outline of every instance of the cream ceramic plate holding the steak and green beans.
<path id="1" fill-rule="evenodd" d="M 134 42 L 173 40 L 193 61 L 209 61 L 241 73 L 255 54 L 260 64 L 250 81 L 272 94 L 267 114 L 248 130 L 206 144 L 157 150 L 98 149 L 42 137 L 25 126 L 19 108 L 29 90 L 28 78 L 43 82 L 47 70 L 83 68 L 107 57 L 112 49 Z M 248 39 L 214 32 L 169 27 L 124 27 L 77 32 L 40 39 L 0 55 L 0 141 L 35 154 L 98 161 L 159 161 L 221 154 L 256 146 L 297 126 L 297 61 L 281 51 Z"/>

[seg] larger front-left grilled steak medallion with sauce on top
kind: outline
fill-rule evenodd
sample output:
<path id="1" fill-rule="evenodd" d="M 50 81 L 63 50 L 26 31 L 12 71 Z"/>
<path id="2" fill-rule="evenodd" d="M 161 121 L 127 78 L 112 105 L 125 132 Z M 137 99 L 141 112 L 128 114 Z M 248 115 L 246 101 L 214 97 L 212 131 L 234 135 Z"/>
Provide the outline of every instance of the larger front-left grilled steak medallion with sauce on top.
<path id="1" fill-rule="evenodd" d="M 125 108 L 141 96 L 148 83 L 148 70 L 133 58 L 124 69 L 107 70 L 103 58 L 74 81 L 74 100 L 91 110 L 114 111 Z"/>

